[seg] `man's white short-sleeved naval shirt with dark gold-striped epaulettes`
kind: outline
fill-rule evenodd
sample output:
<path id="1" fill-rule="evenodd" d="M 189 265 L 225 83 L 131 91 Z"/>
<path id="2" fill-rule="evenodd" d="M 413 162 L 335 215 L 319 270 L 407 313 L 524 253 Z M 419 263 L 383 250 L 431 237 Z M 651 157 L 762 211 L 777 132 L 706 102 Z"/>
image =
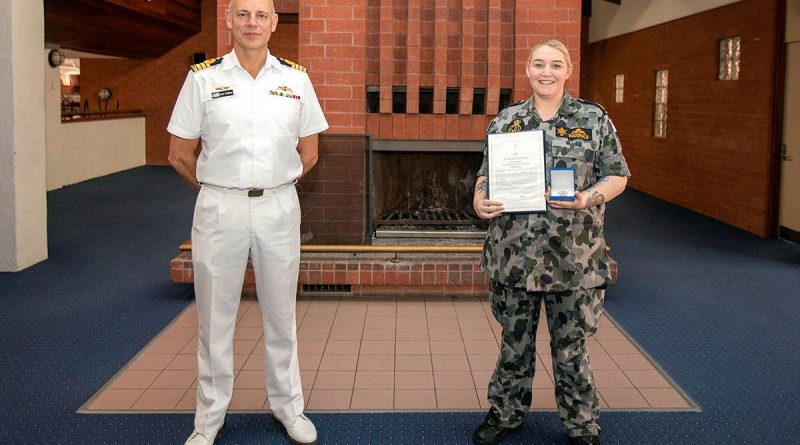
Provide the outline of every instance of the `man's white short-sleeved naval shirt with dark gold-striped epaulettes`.
<path id="1" fill-rule="evenodd" d="M 303 172 L 299 137 L 328 128 L 308 74 L 272 54 L 255 79 L 235 51 L 190 71 L 167 131 L 202 140 L 197 180 L 229 188 L 273 188 Z"/>

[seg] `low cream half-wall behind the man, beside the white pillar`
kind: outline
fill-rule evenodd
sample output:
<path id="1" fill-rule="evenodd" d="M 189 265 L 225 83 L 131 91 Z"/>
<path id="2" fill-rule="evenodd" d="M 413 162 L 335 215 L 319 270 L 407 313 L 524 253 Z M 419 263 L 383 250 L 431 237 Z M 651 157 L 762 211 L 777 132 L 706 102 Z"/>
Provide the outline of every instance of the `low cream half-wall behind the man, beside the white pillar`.
<path id="1" fill-rule="evenodd" d="M 47 190 L 145 164 L 145 119 L 61 123 L 58 68 L 45 73 Z"/>

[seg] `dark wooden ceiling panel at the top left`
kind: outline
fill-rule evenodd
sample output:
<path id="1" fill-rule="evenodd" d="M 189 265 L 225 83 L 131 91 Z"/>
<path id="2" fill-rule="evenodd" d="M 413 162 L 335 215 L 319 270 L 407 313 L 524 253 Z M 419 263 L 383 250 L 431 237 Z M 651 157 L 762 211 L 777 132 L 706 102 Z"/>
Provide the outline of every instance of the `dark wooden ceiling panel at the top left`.
<path id="1" fill-rule="evenodd" d="M 44 0 L 44 16 L 48 44 L 132 59 L 200 32 L 200 0 Z"/>

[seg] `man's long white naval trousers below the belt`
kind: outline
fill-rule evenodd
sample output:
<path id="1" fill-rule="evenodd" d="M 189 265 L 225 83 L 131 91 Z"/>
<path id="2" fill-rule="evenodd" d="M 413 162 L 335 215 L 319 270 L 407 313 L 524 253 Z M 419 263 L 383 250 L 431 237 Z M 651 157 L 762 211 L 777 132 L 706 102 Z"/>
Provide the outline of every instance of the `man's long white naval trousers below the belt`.
<path id="1" fill-rule="evenodd" d="M 233 333 L 248 255 L 264 325 L 266 388 L 279 419 L 302 414 L 295 303 L 300 203 L 293 184 L 249 198 L 202 187 L 192 224 L 197 301 L 195 429 L 214 437 L 233 394 Z"/>

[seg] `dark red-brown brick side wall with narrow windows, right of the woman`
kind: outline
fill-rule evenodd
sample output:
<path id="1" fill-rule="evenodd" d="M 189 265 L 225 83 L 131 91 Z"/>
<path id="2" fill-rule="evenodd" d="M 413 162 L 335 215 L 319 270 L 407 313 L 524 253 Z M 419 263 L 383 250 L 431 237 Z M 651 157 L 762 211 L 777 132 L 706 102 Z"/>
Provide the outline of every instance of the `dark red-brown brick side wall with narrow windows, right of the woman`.
<path id="1" fill-rule="evenodd" d="M 744 0 L 590 45 L 584 96 L 613 117 L 633 173 L 630 186 L 772 234 L 776 11 L 776 0 Z M 735 36 L 741 36 L 739 80 L 718 81 L 718 40 Z M 655 71 L 662 69 L 669 70 L 667 136 L 654 138 Z M 625 75 L 619 104 L 616 74 Z"/>

